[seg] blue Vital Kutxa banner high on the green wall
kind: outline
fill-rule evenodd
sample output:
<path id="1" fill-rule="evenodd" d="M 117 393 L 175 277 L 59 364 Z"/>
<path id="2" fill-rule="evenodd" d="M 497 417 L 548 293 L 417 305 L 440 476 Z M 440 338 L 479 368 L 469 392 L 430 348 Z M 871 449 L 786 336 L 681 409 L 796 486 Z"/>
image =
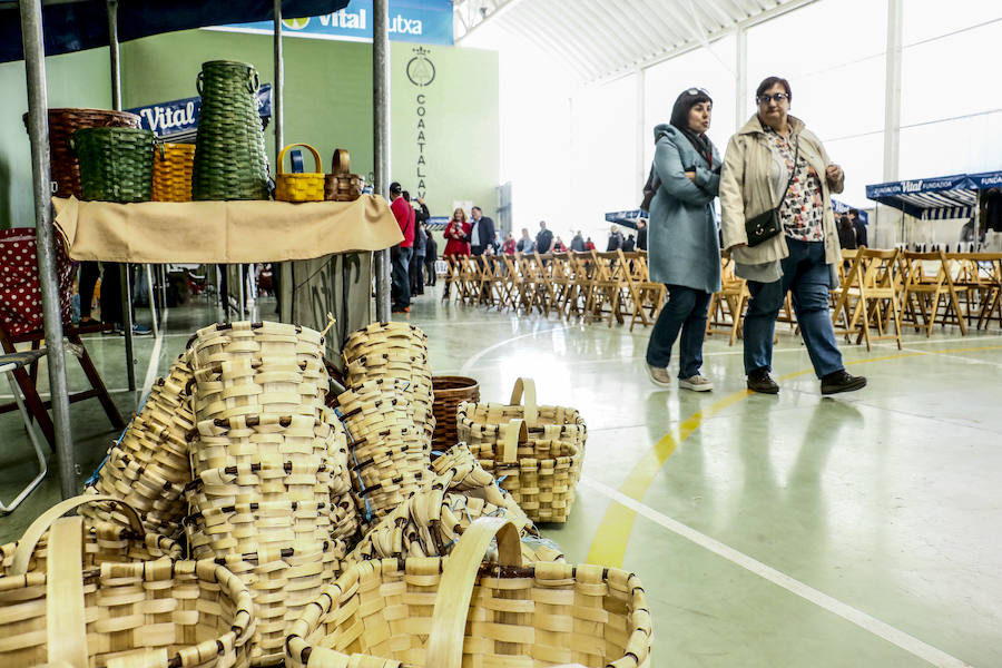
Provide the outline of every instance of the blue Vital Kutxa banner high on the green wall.
<path id="1" fill-rule="evenodd" d="M 213 30 L 272 35 L 272 21 L 234 23 Z M 283 37 L 372 41 L 372 0 L 352 0 L 341 11 L 282 21 Z M 390 0 L 390 39 L 452 46 L 452 0 Z"/>

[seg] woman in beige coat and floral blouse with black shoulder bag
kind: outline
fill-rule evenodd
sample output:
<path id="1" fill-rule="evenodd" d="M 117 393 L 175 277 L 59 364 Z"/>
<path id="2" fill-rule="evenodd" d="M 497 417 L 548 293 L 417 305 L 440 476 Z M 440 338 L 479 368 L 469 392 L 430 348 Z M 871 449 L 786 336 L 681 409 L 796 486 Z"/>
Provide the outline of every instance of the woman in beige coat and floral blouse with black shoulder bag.
<path id="1" fill-rule="evenodd" d="M 849 392 L 866 385 L 866 379 L 845 371 L 828 313 L 828 289 L 836 286 L 835 266 L 842 261 L 831 194 L 842 191 L 844 175 L 821 140 L 789 116 L 790 97 L 786 79 L 769 77 L 758 85 L 758 111 L 730 138 L 720 173 L 724 247 L 752 293 L 744 324 L 745 373 L 749 390 L 779 392 L 769 375 L 773 334 L 786 293 L 793 292 L 822 394 Z M 783 232 L 748 246 L 746 220 L 777 206 Z"/>

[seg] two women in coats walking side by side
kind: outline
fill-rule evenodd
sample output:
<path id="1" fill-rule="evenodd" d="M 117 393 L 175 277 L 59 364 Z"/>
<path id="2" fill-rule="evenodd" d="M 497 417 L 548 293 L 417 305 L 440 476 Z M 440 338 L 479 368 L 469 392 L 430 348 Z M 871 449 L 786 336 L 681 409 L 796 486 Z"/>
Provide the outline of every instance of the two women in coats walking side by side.
<path id="1" fill-rule="evenodd" d="M 669 296 L 651 332 L 647 367 L 659 386 L 672 384 L 668 364 L 680 336 L 679 387 L 713 390 L 700 369 L 709 298 L 720 289 L 721 237 L 752 295 L 744 322 L 747 387 L 779 392 L 772 376 L 773 335 L 790 292 L 822 394 L 866 385 L 845 371 L 828 312 L 842 262 L 831 195 L 842 191 L 844 174 L 804 121 L 789 115 L 792 98 L 786 79 L 763 80 L 757 111 L 730 138 L 723 160 L 706 135 L 713 99 L 701 88 L 682 91 L 670 121 L 655 127 L 660 185 L 650 205 L 649 266 Z M 718 196 L 723 235 L 714 216 Z M 773 223 L 774 236 L 755 234 L 763 220 Z"/>

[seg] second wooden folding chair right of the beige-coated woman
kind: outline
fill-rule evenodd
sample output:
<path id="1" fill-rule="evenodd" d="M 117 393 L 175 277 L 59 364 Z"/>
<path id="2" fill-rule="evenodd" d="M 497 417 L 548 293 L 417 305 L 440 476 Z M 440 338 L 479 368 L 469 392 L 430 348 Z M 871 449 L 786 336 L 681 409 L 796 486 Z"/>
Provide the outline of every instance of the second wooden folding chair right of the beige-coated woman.
<path id="1" fill-rule="evenodd" d="M 925 336 L 932 335 L 933 325 L 956 324 L 961 334 L 967 334 L 967 325 L 961 314 L 957 294 L 966 286 L 953 283 L 953 262 L 942 250 L 936 253 L 906 253 L 907 281 L 904 287 L 904 310 L 910 314 L 917 332 L 920 325 Z M 921 317 L 921 323 L 920 323 Z"/>

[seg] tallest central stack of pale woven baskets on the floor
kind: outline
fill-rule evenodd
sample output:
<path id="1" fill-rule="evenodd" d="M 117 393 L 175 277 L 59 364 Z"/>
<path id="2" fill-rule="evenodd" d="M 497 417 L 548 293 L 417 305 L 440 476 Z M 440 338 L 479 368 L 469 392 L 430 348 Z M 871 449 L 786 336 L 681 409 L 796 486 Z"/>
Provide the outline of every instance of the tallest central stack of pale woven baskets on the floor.
<path id="1" fill-rule="evenodd" d="M 341 569 L 356 529 L 322 350 L 318 332 L 249 322 L 199 330 L 191 345 L 188 544 L 250 588 L 258 665 L 281 658 L 287 622 Z"/>

